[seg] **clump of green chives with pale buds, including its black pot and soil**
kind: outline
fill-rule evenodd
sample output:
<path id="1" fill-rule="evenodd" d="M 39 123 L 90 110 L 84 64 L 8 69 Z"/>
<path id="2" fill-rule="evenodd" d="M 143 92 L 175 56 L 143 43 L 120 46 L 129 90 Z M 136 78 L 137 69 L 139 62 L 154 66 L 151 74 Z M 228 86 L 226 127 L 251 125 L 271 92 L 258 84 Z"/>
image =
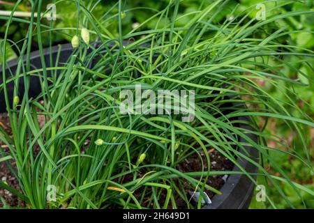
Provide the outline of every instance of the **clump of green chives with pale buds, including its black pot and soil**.
<path id="1" fill-rule="evenodd" d="M 154 15 L 156 29 L 139 25 L 124 33 L 119 1 L 110 17 L 119 23 L 113 36 L 106 17 L 92 16 L 96 5 L 77 1 L 71 43 L 44 48 L 44 32 L 53 38 L 68 29 L 35 20 L 40 3 L 32 6 L 17 59 L 5 60 L 8 47 L 17 45 L 1 40 L 0 105 L 8 125 L 0 127 L 0 163 L 16 179 L 0 178 L 0 187 L 16 197 L 13 204 L 1 199 L 4 206 L 248 208 L 257 175 L 288 203 L 278 180 L 313 194 L 278 167 L 269 154 L 276 148 L 267 146 L 276 138 L 264 132 L 267 119 L 276 118 L 303 139 L 302 125 L 314 127 L 313 120 L 258 84 L 304 85 L 269 61 L 285 64 L 281 56 L 290 54 L 308 63 L 313 52 L 283 45 L 290 33 L 264 27 L 311 12 L 249 22 L 244 14 L 215 24 L 223 6 L 214 1 L 177 26 L 179 1 L 172 1 Z M 8 30 L 13 14 L 7 20 Z M 31 52 L 34 38 L 39 50 Z M 266 161 L 281 176 L 270 174 Z"/>

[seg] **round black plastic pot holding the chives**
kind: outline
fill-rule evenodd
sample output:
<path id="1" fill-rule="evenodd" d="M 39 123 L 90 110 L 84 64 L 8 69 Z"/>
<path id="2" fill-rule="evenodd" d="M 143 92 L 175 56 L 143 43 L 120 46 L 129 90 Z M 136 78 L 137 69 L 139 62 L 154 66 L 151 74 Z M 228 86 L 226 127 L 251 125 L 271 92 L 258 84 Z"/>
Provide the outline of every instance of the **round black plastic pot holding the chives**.
<path id="1" fill-rule="evenodd" d="M 61 47 L 61 54 L 59 57 L 59 65 L 62 66 L 63 63 L 66 63 L 68 61 L 68 58 L 70 54 L 73 52 L 73 48 L 70 44 L 64 44 L 60 45 Z M 58 46 L 52 47 L 52 64 L 55 65 L 56 56 L 59 50 Z M 49 49 L 44 49 L 44 56 L 45 61 L 47 63 L 47 67 L 50 66 L 50 54 Z M 24 61 L 26 59 L 24 58 Z M 41 61 L 40 61 L 40 55 L 39 52 L 31 52 L 31 60 L 30 63 L 32 65 L 32 68 L 42 68 Z M 15 73 L 15 70 L 17 68 L 17 60 L 8 61 L 6 66 L 6 75 L 10 77 L 11 74 Z M 2 67 L 0 68 L 0 84 L 2 84 Z M 30 77 L 30 91 L 29 96 L 30 97 L 36 97 L 41 89 L 40 89 L 40 79 L 38 77 Z M 12 104 L 13 100 L 13 83 L 7 84 L 8 86 L 8 95 L 10 104 Z M 19 92 L 24 93 L 24 82 L 20 81 L 19 86 Z M 232 105 L 232 106 L 239 106 L 239 105 Z M 240 105 L 241 106 L 241 105 Z M 242 105 L 243 106 L 243 105 Z M 6 104 L 4 101 L 4 95 L 3 92 L 0 91 L 0 112 L 6 112 Z M 247 116 L 239 118 L 244 121 L 250 121 L 250 119 Z M 240 124 L 240 128 L 251 130 L 251 126 Z M 257 137 L 254 134 L 246 134 L 248 137 L 250 137 L 253 141 L 257 143 Z M 245 139 L 240 138 L 241 142 L 245 142 Z M 259 160 L 259 153 L 255 148 L 246 146 L 246 151 L 251 155 L 251 159 L 258 161 Z M 241 151 L 240 151 L 241 152 Z M 243 152 L 243 151 L 242 151 Z M 241 164 L 241 167 L 246 169 L 248 173 L 256 173 L 257 167 L 255 167 L 253 164 L 248 162 L 244 159 L 238 159 L 237 162 Z M 234 167 L 233 171 L 239 171 L 237 167 Z M 253 190 L 254 190 L 254 183 L 244 174 L 231 174 L 228 176 L 225 185 L 223 185 L 222 188 L 220 188 L 221 195 L 215 195 L 213 199 L 211 199 L 211 204 L 204 206 L 204 209 L 245 209 L 248 208 L 249 204 L 251 203 L 251 199 L 253 196 Z"/>

